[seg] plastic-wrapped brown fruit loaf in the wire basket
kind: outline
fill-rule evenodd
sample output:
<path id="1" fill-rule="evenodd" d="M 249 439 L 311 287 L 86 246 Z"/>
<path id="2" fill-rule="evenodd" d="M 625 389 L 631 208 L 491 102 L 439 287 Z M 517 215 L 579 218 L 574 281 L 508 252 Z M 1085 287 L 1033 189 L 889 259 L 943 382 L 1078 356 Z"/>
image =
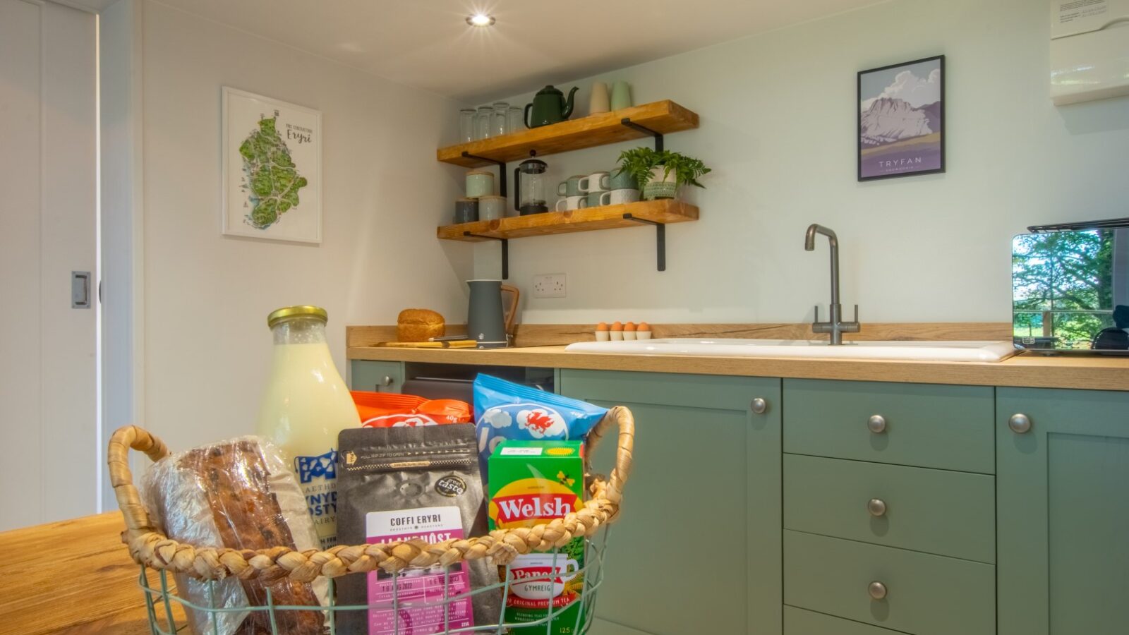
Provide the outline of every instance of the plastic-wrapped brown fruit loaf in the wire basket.
<path id="1" fill-rule="evenodd" d="M 281 453 L 256 437 L 238 437 L 161 459 L 146 475 L 149 508 L 169 538 L 195 546 L 233 549 L 316 548 L 317 536 L 305 497 Z M 177 593 L 208 606 L 204 583 L 176 576 Z M 228 577 L 216 583 L 216 606 L 308 606 L 310 610 L 275 611 L 279 633 L 322 635 L 326 583 L 289 579 L 263 582 Z M 208 614 L 187 611 L 196 633 L 268 635 L 266 611 Z M 213 625 L 212 620 L 217 623 Z M 213 630 L 213 627 L 216 630 Z"/>

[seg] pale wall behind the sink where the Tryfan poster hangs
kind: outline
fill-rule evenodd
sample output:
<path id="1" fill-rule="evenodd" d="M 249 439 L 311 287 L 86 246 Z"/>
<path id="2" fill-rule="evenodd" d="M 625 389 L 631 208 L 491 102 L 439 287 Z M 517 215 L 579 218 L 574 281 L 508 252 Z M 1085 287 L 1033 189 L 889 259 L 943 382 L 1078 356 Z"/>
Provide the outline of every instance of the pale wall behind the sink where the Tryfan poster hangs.
<path id="1" fill-rule="evenodd" d="M 560 85 L 581 86 L 580 115 L 593 79 L 695 111 L 700 129 L 666 147 L 714 173 L 690 193 L 701 220 L 667 228 L 666 272 L 649 228 L 513 241 L 513 284 L 568 273 L 569 296 L 527 296 L 523 321 L 811 321 L 829 297 L 811 223 L 839 233 L 842 302 L 864 324 L 1007 321 L 1013 234 L 1129 215 L 1129 98 L 1056 108 L 1049 33 L 1045 2 L 895 0 Z M 938 53 L 947 172 L 856 182 L 856 72 Z M 634 145 L 543 158 L 555 183 Z M 497 276 L 497 254 L 476 246 L 475 275 Z"/>

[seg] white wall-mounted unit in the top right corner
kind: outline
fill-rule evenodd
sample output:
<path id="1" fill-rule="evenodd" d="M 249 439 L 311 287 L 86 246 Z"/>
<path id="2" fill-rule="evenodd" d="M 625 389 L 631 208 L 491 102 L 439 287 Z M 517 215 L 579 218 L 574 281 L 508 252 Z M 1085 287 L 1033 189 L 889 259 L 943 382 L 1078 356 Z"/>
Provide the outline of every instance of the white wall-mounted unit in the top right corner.
<path id="1" fill-rule="evenodd" d="M 1129 95 L 1129 0 L 1052 0 L 1051 99 L 1119 95 Z"/>

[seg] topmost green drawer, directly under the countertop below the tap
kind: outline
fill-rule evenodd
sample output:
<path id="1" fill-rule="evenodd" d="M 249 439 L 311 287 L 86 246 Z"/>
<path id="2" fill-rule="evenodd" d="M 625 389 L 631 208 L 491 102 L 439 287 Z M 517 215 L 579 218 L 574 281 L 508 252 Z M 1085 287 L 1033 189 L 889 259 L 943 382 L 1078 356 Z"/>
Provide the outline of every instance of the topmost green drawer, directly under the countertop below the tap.
<path id="1" fill-rule="evenodd" d="M 996 471 L 990 386 L 785 380 L 784 403 L 785 452 Z"/>

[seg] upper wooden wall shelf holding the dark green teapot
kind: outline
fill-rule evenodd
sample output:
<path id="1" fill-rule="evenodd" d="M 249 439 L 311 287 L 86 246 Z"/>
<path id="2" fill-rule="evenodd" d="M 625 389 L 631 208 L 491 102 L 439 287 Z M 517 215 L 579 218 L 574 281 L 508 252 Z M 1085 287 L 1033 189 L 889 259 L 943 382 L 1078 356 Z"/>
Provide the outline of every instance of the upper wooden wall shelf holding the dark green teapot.
<path id="1" fill-rule="evenodd" d="M 698 128 L 697 113 L 665 99 L 439 148 L 436 158 L 463 167 L 482 167 L 526 159 L 531 153 L 545 156 L 648 137 L 648 132 L 625 125 L 623 120 L 658 134 Z"/>

